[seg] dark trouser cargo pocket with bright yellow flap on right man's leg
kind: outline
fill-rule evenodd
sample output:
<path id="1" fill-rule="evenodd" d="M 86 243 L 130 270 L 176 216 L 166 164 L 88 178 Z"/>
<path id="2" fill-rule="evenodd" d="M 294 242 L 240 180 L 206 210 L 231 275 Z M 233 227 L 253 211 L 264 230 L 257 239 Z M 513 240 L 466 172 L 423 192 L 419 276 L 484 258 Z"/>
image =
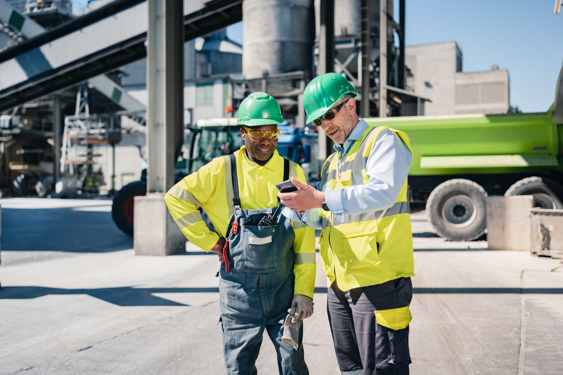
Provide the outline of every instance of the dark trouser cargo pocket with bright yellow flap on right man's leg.
<path id="1" fill-rule="evenodd" d="M 377 322 L 376 366 L 391 368 L 409 364 L 409 323 L 412 320 L 409 306 L 374 310 L 374 314 Z"/>

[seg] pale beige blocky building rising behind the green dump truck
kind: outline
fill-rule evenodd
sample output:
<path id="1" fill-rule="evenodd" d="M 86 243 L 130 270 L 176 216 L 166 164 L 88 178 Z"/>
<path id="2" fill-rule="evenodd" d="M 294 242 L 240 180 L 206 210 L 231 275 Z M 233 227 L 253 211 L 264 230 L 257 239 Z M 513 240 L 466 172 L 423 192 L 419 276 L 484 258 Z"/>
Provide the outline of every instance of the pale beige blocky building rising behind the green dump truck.
<path id="1" fill-rule="evenodd" d="M 405 64 L 414 76 L 414 92 L 430 98 L 425 115 L 505 114 L 510 105 L 508 70 L 465 73 L 456 42 L 406 46 Z"/>

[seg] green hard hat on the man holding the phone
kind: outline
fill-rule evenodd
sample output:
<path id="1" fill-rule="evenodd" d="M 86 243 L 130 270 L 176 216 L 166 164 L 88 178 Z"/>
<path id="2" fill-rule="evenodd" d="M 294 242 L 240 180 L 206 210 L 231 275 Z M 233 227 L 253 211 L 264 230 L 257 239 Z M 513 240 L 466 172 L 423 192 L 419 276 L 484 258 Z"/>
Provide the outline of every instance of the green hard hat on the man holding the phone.
<path id="1" fill-rule="evenodd" d="M 303 106 L 307 113 L 307 121 L 323 116 L 346 94 L 358 95 L 358 91 L 340 74 L 327 73 L 316 76 L 309 82 L 303 93 Z"/>

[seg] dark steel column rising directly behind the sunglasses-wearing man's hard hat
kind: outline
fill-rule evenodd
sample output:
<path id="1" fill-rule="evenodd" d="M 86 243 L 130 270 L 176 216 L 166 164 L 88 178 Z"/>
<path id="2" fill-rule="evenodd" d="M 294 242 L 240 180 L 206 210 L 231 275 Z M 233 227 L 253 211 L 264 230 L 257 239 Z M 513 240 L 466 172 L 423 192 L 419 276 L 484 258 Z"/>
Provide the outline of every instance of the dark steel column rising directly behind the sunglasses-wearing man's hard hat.
<path id="1" fill-rule="evenodd" d="M 317 75 L 334 71 L 334 0 L 320 0 L 319 65 Z M 333 153 L 332 139 L 319 129 L 319 160 Z"/>

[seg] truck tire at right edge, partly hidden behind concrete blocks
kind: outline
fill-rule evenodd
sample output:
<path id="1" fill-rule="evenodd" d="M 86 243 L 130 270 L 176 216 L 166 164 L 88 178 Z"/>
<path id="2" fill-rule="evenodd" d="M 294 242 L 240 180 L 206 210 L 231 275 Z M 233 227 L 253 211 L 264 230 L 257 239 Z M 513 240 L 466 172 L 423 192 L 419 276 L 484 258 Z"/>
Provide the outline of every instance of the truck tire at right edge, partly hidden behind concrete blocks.
<path id="1" fill-rule="evenodd" d="M 515 182 L 505 197 L 513 195 L 534 196 L 534 207 L 542 209 L 563 209 L 563 186 L 543 177 L 528 177 Z"/>

